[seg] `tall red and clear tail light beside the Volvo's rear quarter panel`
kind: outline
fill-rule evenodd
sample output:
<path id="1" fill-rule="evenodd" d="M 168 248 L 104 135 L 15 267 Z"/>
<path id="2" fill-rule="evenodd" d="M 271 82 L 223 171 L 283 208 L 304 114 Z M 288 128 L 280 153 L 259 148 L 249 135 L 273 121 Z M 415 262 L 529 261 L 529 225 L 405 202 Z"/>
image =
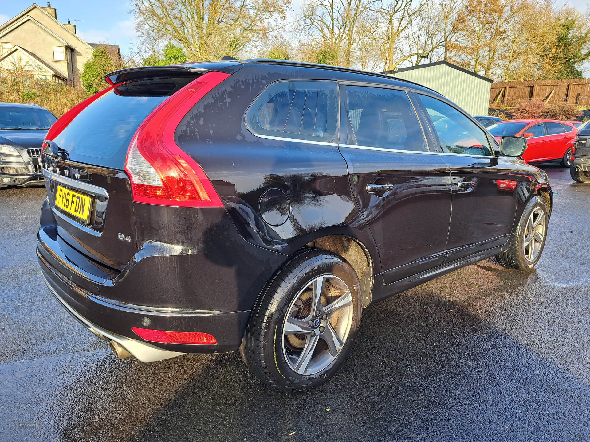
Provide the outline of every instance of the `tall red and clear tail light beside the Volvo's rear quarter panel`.
<path id="1" fill-rule="evenodd" d="M 133 138 L 125 170 L 133 200 L 182 207 L 223 207 L 201 166 L 176 145 L 174 131 L 189 110 L 229 74 L 207 72 L 166 99 Z"/>

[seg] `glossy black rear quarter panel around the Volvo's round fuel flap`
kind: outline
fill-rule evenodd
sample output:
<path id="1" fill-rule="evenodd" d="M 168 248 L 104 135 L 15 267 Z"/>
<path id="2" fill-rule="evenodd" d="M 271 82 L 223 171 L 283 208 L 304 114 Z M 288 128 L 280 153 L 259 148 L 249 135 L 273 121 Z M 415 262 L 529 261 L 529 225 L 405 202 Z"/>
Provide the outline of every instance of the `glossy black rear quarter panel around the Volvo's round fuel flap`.
<path id="1" fill-rule="evenodd" d="M 336 80 L 327 70 L 245 64 L 189 111 L 176 142 L 207 173 L 247 242 L 291 255 L 321 236 L 348 235 L 369 250 L 380 273 L 337 146 L 258 137 L 245 126 L 245 111 L 263 88 L 286 79 Z M 260 215 L 260 197 L 270 188 L 289 197 L 289 216 L 280 226 Z"/>

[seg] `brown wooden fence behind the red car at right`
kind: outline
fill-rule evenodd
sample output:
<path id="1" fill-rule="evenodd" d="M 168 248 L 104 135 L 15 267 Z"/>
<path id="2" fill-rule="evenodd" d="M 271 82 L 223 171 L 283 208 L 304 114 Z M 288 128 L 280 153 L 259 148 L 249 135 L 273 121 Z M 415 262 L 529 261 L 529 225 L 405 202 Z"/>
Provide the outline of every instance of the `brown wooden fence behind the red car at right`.
<path id="1" fill-rule="evenodd" d="M 566 101 L 576 106 L 590 107 L 590 78 L 509 81 L 491 85 L 490 107 L 514 106 L 530 100 L 547 103 Z"/>

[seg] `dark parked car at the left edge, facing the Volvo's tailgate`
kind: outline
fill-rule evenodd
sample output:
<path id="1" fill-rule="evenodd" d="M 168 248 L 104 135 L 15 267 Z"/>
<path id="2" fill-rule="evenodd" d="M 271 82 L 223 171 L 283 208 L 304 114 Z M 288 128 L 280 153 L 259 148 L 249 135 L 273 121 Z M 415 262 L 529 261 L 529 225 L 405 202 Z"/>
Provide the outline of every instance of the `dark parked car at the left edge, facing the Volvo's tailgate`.
<path id="1" fill-rule="evenodd" d="M 41 147 L 55 120 L 36 104 L 0 103 L 0 187 L 44 183 Z"/>

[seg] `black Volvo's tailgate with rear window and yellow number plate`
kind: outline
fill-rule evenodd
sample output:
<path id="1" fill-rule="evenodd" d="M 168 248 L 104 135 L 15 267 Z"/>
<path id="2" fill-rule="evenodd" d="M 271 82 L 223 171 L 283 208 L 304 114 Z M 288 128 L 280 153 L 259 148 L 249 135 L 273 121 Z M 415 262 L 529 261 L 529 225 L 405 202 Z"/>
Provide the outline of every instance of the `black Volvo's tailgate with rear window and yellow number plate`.
<path id="1" fill-rule="evenodd" d="M 143 120 L 195 77 L 121 84 L 54 138 L 64 159 L 54 164 L 45 158 L 43 173 L 60 241 L 119 270 L 135 255 L 140 245 L 123 171 L 129 144 Z"/>

